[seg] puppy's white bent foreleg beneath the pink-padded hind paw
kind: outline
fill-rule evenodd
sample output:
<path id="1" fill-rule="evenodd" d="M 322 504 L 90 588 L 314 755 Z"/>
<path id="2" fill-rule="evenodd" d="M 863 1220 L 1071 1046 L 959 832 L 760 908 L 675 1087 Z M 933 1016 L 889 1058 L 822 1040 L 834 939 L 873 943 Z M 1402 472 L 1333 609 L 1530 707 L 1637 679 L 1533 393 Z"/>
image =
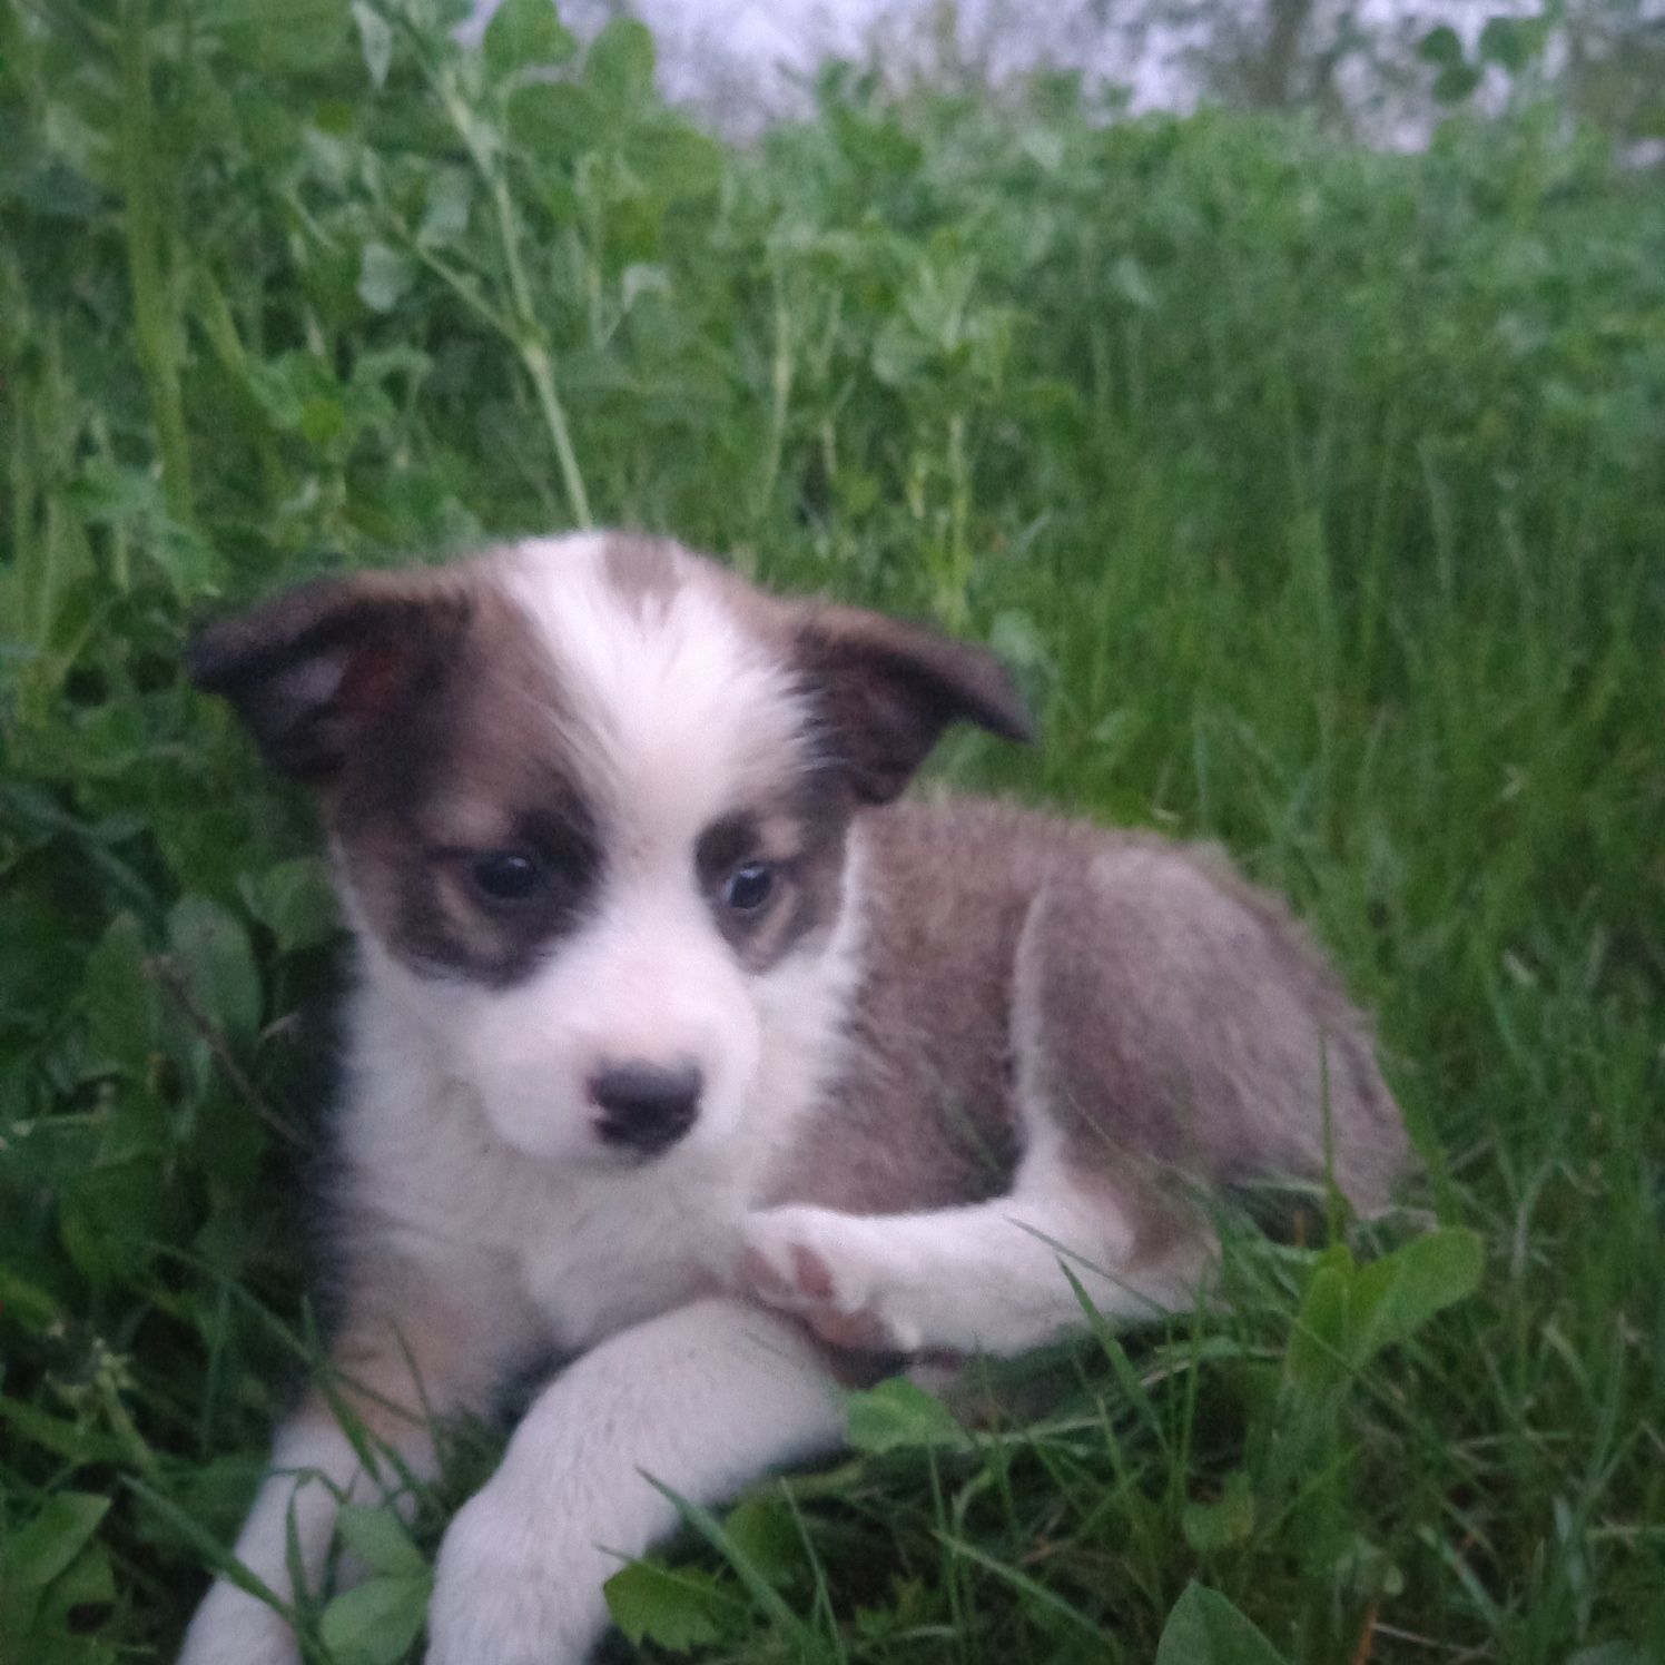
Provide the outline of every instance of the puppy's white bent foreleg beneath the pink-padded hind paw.
<path id="1" fill-rule="evenodd" d="M 619 1557 L 676 1525 L 648 1475 L 709 1503 L 842 1429 L 813 1344 L 749 1302 L 698 1300 L 611 1337 L 544 1390 L 446 1532 L 428 1665 L 578 1665 Z"/>

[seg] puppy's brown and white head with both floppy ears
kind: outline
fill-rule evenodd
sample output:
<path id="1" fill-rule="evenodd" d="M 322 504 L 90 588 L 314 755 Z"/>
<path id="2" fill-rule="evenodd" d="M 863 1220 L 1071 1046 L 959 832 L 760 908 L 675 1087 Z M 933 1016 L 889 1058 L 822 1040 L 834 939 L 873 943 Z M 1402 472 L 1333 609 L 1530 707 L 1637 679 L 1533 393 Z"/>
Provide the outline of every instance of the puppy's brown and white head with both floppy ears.
<path id="1" fill-rule="evenodd" d="M 954 721 L 1027 734 L 979 649 L 619 534 L 308 586 L 190 671 L 318 791 L 370 976 L 498 1134 L 594 1164 L 728 1139 L 851 818 Z"/>

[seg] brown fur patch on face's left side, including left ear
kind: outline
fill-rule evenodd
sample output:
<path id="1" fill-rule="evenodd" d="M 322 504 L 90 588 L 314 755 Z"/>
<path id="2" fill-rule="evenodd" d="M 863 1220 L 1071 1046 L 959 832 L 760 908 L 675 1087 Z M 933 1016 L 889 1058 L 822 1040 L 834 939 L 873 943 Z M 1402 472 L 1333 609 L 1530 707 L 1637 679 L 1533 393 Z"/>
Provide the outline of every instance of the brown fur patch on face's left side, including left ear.
<path id="1" fill-rule="evenodd" d="M 563 693 L 491 559 L 310 586 L 213 626 L 193 674 L 318 784 L 355 894 L 406 964 L 508 984 L 579 917 L 601 851 Z M 491 851 L 531 856 L 536 894 L 483 894 L 473 861 Z"/>

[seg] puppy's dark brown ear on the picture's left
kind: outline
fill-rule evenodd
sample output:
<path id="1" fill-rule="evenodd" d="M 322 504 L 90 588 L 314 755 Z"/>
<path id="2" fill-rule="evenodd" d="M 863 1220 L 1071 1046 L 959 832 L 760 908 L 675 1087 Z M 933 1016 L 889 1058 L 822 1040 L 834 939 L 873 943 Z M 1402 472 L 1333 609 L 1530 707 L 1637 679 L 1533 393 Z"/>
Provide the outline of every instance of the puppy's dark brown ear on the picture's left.
<path id="1" fill-rule="evenodd" d="M 236 706 L 275 768 L 316 784 L 371 724 L 443 673 L 470 609 L 456 583 L 363 573 L 216 619 L 186 649 L 185 668 Z"/>

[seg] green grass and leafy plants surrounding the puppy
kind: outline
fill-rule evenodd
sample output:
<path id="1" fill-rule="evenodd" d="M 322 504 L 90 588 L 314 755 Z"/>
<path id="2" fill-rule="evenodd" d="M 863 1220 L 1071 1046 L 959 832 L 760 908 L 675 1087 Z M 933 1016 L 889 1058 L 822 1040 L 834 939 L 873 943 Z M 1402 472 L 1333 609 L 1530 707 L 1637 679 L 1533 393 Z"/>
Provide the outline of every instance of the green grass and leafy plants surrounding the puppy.
<path id="1" fill-rule="evenodd" d="M 1044 744 L 937 776 L 1292 894 L 1445 1227 L 1234 1240 L 1036 1420 L 862 1402 L 624 1610 L 758 1665 L 1665 1657 L 1658 178 L 1555 112 L 1384 157 L 849 77 L 729 153 L 629 27 L 524 83 L 416 10 L 0 0 L 0 1658 L 166 1657 L 315 1355 L 335 927 L 190 624 L 586 511 L 999 648 Z"/>

